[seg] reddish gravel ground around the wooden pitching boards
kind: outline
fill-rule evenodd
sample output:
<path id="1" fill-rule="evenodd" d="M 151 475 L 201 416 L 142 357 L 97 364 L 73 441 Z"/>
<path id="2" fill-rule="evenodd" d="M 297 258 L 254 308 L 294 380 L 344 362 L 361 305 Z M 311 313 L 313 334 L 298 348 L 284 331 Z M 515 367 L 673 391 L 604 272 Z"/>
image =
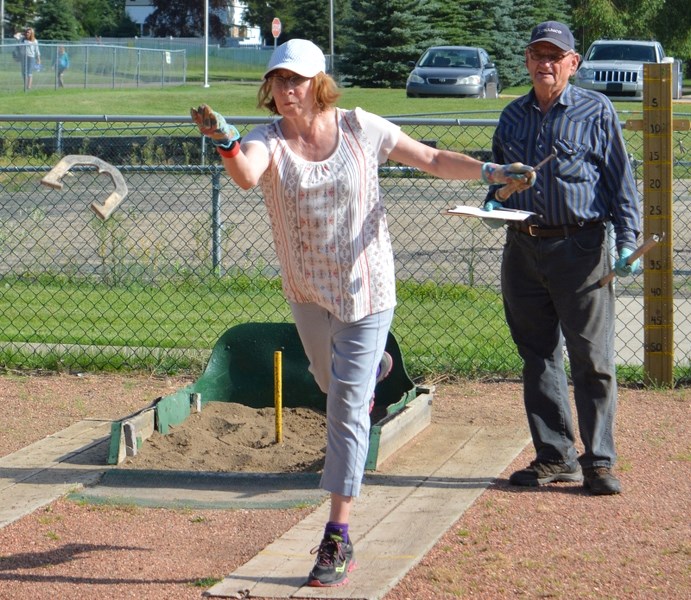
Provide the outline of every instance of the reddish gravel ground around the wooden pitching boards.
<path id="1" fill-rule="evenodd" d="M 0 455 L 81 419 L 121 418 L 187 383 L 145 375 L 0 376 Z M 220 417 L 207 406 L 189 425 L 208 419 L 203 429 L 215 427 L 228 448 L 240 422 L 254 418 Z M 384 600 L 691 598 L 690 407 L 689 389 L 620 389 L 619 496 L 593 497 L 579 484 L 509 486 L 509 474 L 533 457 L 527 447 Z M 276 449 L 268 413 L 262 437 L 250 436 L 257 452 Z M 525 428 L 521 386 L 438 382 L 432 421 Z M 319 426 L 310 420 L 300 433 Z M 197 442 L 199 432 L 176 446 Z M 316 465 L 313 457 L 300 461 Z M 0 600 L 199 599 L 310 510 L 169 510 L 60 499 L 0 529 Z M 353 539 L 357 546 L 357 531 Z"/>

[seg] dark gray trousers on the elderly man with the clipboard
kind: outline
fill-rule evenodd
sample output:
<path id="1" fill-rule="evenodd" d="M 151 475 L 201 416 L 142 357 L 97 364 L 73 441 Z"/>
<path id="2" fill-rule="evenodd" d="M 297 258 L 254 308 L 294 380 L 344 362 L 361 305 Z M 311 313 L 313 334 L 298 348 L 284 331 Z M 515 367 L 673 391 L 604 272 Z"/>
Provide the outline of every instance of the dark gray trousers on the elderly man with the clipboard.
<path id="1" fill-rule="evenodd" d="M 578 456 L 564 369 L 566 343 L 583 467 L 616 460 L 615 305 L 605 226 L 568 237 L 509 229 L 501 281 L 504 310 L 523 359 L 523 398 L 537 460 L 573 464 Z"/>

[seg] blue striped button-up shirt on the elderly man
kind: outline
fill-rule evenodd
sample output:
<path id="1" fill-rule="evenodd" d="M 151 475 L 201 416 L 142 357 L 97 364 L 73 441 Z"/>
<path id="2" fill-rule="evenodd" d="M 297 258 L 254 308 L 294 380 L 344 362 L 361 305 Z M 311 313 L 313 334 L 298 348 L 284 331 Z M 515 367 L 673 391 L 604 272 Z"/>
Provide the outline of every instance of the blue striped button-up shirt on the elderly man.
<path id="1" fill-rule="evenodd" d="M 617 247 L 634 248 L 639 198 L 609 99 L 569 84 L 545 115 L 532 90 L 504 109 L 492 141 L 496 162 L 536 165 L 553 147 L 557 157 L 538 171 L 535 186 L 504 205 L 537 213 L 529 222 L 543 227 L 612 221 Z"/>

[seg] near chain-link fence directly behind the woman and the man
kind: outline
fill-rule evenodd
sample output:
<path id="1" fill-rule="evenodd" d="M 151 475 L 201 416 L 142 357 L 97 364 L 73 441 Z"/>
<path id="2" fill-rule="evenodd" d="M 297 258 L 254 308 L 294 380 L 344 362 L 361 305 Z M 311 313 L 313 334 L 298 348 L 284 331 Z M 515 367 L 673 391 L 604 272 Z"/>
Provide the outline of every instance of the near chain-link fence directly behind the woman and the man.
<path id="1" fill-rule="evenodd" d="M 188 119 L 122 119 L 0 117 L 0 363 L 6 366 L 199 370 L 229 327 L 291 320 L 259 192 L 230 181 Z M 266 122 L 230 120 L 241 134 Z M 496 125 L 391 120 L 416 139 L 483 160 Z M 625 135 L 642 193 L 642 134 Z M 679 379 L 691 355 L 691 133 L 674 136 Z M 97 156 L 124 176 L 129 194 L 108 220 L 89 210 L 112 191 L 94 168 L 71 169 L 62 189 L 41 185 L 68 154 Z M 410 374 L 519 375 L 499 290 L 503 231 L 443 214 L 457 204 L 481 205 L 485 186 L 393 163 L 380 174 L 397 267 L 393 332 Z M 642 276 L 616 283 L 617 362 L 635 377 L 644 357 L 642 286 Z"/>

